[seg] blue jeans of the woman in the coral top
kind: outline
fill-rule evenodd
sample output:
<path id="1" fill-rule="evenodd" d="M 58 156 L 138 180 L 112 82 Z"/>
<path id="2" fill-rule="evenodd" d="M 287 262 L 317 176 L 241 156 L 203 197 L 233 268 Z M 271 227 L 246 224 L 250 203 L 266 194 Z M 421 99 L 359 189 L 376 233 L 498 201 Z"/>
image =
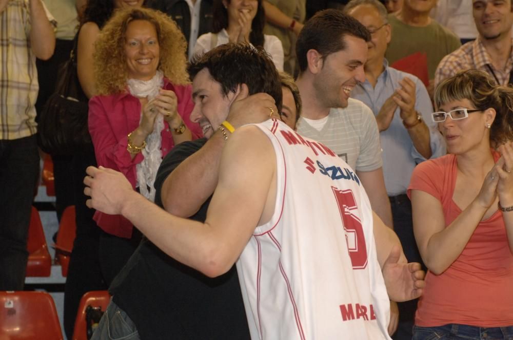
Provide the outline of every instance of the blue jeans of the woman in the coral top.
<path id="1" fill-rule="evenodd" d="M 437 327 L 413 326 L 412 340 L 513 340 L 513 326 L 482 328 L 448 324 Z"/>

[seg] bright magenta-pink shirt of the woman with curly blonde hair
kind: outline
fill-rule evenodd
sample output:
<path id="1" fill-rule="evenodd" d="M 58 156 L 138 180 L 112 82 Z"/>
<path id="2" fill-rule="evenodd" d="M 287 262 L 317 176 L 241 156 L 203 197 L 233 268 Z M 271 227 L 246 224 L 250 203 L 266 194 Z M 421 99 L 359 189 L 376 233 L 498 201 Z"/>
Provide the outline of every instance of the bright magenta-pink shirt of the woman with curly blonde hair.
<path id="1" fill-rule="evenodd" d="M 176 94 L 178 114 L 191 131 L 192 139 L 202 137 L 200 125 L 191 122 L 189 118 L 194 108 L 191 86 L 173 85 L 164 78 L 163 88 L 172 90 Z M 140 119 L 141 102 L 128 92 L 110 96 L 95 96 L 89 101 L 89 133 L 93 141 L 97 164 L 122 172 L 134 189 L 137 182 L 135 165 L 141 163 L 144 156 L 139 153 L 131 159 L 127 151 L 127 136 L 139 126 Z M 165 121 L 164 126 L 161 133 L 162 157 L 166 156 L 174 146 L 169 125 Z M 122 216 L 96 211 L 93 218 L 105 232 L 123 238 L 132 236 L 132 223 Z"/>

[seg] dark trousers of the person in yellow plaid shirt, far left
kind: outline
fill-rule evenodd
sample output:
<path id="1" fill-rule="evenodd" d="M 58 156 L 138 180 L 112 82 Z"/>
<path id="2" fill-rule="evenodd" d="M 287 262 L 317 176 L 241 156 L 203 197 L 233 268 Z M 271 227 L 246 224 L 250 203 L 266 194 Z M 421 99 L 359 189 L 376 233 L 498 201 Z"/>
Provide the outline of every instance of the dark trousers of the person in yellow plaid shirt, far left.
<path id="1" fill-rule="evenodd" d="M 0 140 L 0 290 L 23 290 L 39 162 L 35 136 Z"/>

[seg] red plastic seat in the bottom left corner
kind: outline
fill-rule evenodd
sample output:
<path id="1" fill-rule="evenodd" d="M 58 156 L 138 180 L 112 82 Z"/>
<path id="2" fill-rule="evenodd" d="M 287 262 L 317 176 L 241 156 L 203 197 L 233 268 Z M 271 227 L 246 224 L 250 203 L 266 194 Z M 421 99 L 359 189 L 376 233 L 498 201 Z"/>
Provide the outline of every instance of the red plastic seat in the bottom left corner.
<path id="1" fill-rule="evenodd" d="M 52 296 L 38 291 L 0 291 L 0 339 L 62 340 Z"/>

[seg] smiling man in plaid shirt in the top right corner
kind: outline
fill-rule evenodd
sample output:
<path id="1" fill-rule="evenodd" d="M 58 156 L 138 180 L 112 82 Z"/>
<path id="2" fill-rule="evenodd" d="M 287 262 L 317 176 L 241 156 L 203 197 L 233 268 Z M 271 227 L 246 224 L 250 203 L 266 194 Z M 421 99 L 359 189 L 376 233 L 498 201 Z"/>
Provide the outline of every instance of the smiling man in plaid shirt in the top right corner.
<path id="1" fill-rule="evenodd" d="M 469 69 L 485 71 L 498 84 L 512 84 L 511 0 L 473 0 L 472 6 L 479 36 L 440 61 L 435 84 Z"/>

